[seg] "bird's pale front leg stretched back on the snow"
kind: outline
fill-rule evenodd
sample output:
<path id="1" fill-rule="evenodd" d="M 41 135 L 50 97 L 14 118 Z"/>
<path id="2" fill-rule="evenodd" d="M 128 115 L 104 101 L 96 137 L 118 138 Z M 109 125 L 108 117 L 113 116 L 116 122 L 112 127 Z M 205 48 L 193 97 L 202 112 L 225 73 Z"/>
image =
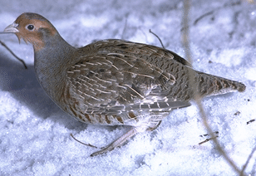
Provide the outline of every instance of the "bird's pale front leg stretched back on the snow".
<path id="1" fill-rule="evenodd" d="M 138 133 L 138 130 L 136 130 L 135 127 L 133 127 L 131 130 L 129 130 L 126 134 L 123 134 L 120 138 L 116 139 L 114 142 L 111 144 L 107 145 L 105 148 L 101 149 L 100 151 L 97 151 L 91 156 L 96 156 L 98 154 L 104 154 L 108 151 L 111 151 L 112 149 L 115 149 L 116 147 L 121 146 L 126 142 L 126 140 L 130 139 L 132 136 Z"/>

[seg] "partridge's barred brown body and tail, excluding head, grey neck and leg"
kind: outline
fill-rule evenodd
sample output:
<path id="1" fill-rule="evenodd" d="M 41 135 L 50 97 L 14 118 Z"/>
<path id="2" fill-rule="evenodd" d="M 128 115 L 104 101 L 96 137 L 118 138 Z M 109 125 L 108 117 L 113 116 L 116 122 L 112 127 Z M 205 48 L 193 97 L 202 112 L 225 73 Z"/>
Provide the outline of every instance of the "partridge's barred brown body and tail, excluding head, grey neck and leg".
<path id="1" fill-rule="evenodd" d="M 77 120 L 95 125 L 154 127 L 170 110 L 190 105 L 190 64 L 172 51 L 122 40 L 81 48 L 66 71 L 62 106 Z M 194 71 L 199 95 L 245 89 L 242 83 Z"/>

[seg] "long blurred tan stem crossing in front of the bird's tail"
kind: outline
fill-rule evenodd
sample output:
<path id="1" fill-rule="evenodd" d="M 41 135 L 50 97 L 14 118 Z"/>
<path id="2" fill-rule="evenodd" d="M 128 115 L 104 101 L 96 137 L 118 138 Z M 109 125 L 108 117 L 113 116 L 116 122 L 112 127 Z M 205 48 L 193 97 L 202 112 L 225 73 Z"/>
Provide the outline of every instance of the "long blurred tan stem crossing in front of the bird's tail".
<path id="1" fill-rule="evenodd" d="M 190 12 L 190 0 L 185 0 L 184 1 L 184 14 L 183 14 L 183 25 L 184 26 L 183 26 L 183 30 L 182 30 L 182 32 L 183 32 L 182 42 L 185 47 L 185 56 L 188 59 L 188 61 L 190 61 L 191 65 L 192 65 L 192 59 L 191 59 L 191 54 L 190 54 L 189 12 Z M 194 77 L 194 71 L 190 71 L 190 78 L 193 78 L 193 77 Z M 193 86 L 194 90 L 196 89 L 194 86 L 193 79 L 190 79 L 190 85 Z M 226 161 L 235 170 L 235 172 L 237 172 L 239 175 L 243 175 L 243 173 L 239 170 L 239 168 L 236 166 L 236 164 L 234 164 L 234 162 L 229 158 L 229 156 L 224 151 L 224 149 L 222 149 L 218 140 L 216 138 L 214 138 L 214 132 L 209 127 L 209 124 L 207 122 L 207 115 L 205 114 L 200 97 L 198 95 L 194 95 L 194 100 L 199 107 L 199 113 L 203 119 L 204 126 L 208 130 L 208 133 L 210 134 L 211 138 L 214 140 L 214 144 L 216 145 L 216 148 L 218 149 L 219 153 L 224 156 L 224 159 L 226 159 Z"/>

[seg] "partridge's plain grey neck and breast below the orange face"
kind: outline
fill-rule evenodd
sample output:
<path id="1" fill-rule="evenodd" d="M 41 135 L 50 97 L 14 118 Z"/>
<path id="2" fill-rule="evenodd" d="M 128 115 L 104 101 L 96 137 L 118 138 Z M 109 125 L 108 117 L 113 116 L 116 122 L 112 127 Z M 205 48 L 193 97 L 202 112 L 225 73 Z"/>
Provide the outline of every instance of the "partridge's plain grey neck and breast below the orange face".
<path id="1" fill-rule="evenodd" d="M 41 51 L 34 46 L 34 62 L 37 80 L 52 100 L 61 99 L 66 83 L 66 70 L 74 60 L 76 48 L 69 45 L 60 35 L 46 40 Z"/>

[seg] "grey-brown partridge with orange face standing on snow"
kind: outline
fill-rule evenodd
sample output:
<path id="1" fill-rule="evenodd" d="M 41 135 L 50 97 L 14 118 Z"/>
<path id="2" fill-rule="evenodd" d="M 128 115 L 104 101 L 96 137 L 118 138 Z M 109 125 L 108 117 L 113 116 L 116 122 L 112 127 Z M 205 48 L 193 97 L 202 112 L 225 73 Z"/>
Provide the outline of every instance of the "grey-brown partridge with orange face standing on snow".
<path id="1" fill-rule="evenodd" d="M 71 46 L 33 12 L 22 13 L 3 32 L 32 44 L 37 80 L 68 115 L 91 125 L 130 126 L 91 156 L 155 130 L 171 110 L 190 106 L 194 97 L 246 89 L 241 82 L 195 71 L 183 57 L 158 46 L 120 39 Z"/>

